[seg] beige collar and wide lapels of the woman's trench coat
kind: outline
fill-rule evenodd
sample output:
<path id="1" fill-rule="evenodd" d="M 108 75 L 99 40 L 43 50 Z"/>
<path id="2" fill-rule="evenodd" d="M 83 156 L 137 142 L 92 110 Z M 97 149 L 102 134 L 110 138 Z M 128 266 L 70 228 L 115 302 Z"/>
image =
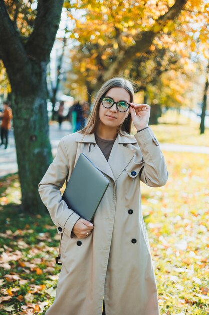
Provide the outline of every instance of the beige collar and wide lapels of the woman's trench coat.
<path id="1" fill-rule="evenodd" d="M 83 140 L 82 138 L 83 135 L 78 133 L 76 141 L 82 143 L 96 144 L 94 133 L 86 135 Z M 137 141 L 133 136 L 129 135 L 121 136 L 118 134 L 113 144 L 108 161 L 105 159 L 105 156 L 98 145 L 95 145 L 94 148 L 89 153 L 87 153 L 87 156 L 101 172 L 103 172 L 104 174 L 112 178 L 114 181 L 116 181 L 135 154 L 134 149 L 128 148 L 123 144 L 136 142 Z"/>

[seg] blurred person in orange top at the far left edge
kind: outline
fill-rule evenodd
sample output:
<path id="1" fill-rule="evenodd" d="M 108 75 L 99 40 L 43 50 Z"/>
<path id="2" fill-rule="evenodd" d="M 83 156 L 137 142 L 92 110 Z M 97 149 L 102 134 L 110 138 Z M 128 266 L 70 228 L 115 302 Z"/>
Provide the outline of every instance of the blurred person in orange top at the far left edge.
<path id="1" fill-rule="evenodd" d="M 4 112 L 0 113 L 0 118 L 2 120 L 1 125 L 1 144 L 5 145 L 5 149 L 8 147 L 8 134 L 11 128 L 11 120 L 13 118 L 12 109 L 10 108 L 10 104 L 8 101 L 3 103 Z"/>

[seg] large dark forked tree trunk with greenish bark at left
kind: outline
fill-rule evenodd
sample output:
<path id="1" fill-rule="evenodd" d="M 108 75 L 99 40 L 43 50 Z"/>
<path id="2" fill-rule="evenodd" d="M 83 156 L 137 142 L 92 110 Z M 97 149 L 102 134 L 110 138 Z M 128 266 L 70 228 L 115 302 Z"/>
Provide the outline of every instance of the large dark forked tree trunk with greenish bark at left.
<path id="1" fill-rule="evenodd" d="M 63 0 L 39 0 L 34 31 L 26 44 L 0 1 L 0 58 L 12 87 L 14 135 L 22 208 L 45 212 L 38 184 L 52 162 L 47 113 L 46 68 Z M 49 27 L 50 26 L 50 27 Z"/>

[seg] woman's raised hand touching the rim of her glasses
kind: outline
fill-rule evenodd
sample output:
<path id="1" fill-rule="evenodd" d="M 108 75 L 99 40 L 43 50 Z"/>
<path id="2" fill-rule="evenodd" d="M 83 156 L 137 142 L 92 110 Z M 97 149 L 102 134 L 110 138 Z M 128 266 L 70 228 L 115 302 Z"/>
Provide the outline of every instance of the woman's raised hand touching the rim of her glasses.
<path id="1" fill-rule="evenodd" d="M 147 104 L 130 103 L 130 113 L 136 130 L 148 127 L 150 106 Z"/>

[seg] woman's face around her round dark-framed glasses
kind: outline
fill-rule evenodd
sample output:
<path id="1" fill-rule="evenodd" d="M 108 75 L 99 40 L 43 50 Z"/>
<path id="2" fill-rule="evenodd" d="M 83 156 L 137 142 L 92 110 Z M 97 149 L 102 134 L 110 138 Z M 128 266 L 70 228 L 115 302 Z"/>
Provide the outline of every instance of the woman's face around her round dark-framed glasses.
<path id="1" fill-rule="evenodd" d="M 106 97 L 111 97 L 116 103 L 119 101 L 130 102 L 129 93 L 123 88 L 112 88 L 104 95 Z M 125 118 L 128 116 L 130 109 L 126 112 L 119 112 L 116 104 L 114 104 L 111 108 L 105 108 L 102 103 L 100 103 L 99 107 L 99 119 L 100 123 L 107 127 L 116 128 L 120 126 Z"/>

